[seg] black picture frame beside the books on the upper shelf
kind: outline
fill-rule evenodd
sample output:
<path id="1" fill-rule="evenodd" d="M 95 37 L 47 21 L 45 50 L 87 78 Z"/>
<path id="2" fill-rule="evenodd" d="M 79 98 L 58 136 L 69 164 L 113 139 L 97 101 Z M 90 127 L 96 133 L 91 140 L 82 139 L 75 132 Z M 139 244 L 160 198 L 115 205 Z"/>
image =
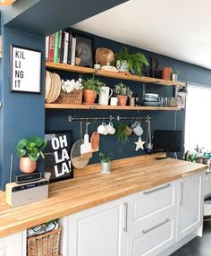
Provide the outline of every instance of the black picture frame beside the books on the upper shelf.
<path id="1" fill-rule="evenodd" d="M 84 67 L 93 67 L 93 38 L 89 36 L 84 36 L 78 32 L 72 32 L 72 37 L 76 38 L 76 55 L 79 52 L 80 48 L 80 66 Z"/>

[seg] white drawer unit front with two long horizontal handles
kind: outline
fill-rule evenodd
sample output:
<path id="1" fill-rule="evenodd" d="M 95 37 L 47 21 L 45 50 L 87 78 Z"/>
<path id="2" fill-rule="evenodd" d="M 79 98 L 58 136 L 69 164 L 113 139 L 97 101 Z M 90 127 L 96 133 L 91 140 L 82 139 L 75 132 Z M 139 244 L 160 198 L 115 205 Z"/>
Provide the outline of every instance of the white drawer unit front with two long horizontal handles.
<path id="1" fill-rule="evenodd" d="M 131 196 L 127 256 L 156 256 L 175 243 L 177 184 L 166 183 Z"/>

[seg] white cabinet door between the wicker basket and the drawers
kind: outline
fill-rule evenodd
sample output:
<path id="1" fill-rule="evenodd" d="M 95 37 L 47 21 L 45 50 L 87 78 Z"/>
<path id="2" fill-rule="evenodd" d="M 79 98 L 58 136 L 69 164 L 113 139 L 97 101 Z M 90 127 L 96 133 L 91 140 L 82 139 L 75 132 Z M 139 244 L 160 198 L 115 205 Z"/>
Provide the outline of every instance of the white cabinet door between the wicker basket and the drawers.
<path id="1" fill-rule="evenodd" d="M 124 256 L 125 210 L 122 201 L 112 201 L 71 215 L 66 256 Z"/>

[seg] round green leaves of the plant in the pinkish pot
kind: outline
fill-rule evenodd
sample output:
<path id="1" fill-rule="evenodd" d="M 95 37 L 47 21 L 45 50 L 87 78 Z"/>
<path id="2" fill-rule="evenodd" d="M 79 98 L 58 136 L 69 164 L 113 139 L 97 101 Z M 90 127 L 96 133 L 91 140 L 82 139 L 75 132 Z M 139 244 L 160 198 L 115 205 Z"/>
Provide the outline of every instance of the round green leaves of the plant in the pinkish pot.
<path id="1" fill-rule="evenodd" d="M 41 149 L 46 148 L 46 140 L 37 136 L 30 137 L 29 140 L 23 138 L 15 147 L 18 158 L 29 157 L 32 161 L 37 161 L 39 157 L 45 158 Z"/>

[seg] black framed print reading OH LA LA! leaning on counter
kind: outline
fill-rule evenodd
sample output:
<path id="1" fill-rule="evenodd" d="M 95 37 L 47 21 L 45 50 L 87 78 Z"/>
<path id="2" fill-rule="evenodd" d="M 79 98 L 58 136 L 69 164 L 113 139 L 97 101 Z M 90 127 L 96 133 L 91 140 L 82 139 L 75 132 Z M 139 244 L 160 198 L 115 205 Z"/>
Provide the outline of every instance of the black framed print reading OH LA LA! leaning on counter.
<path id="1" fill-rule="evenodd" d="M 71 161 L 72 131 L 46 132 L 44 170 L 50 183 L 73 178 Z"/>

